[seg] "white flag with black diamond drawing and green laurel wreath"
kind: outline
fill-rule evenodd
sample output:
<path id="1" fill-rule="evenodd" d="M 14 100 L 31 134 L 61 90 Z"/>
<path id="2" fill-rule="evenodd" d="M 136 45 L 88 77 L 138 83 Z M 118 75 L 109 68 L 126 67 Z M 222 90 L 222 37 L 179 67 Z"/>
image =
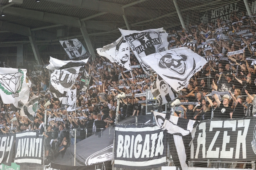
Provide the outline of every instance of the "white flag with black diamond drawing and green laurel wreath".
<path id="1" fill-rule="evenodd" d="M 4 104 L 18 107 L 18 101 L 28 102 L 29 83 L 26 83 L 26 69 L 0 67 L 0 95 Z"/>

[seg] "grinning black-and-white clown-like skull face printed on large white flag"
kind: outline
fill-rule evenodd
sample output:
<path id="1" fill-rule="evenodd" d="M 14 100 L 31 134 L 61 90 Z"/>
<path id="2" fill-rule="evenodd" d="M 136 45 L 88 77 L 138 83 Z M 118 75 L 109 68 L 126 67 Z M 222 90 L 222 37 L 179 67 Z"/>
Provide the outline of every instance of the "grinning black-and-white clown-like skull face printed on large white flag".
<path id="1" fill-rule="evenodd" d="M 184 54 L 175 55 L 167 53 L 159 60 L 158 66 L 162 69 L 169 69 L 181 76 L 186 73 L 188 56 Z"/>

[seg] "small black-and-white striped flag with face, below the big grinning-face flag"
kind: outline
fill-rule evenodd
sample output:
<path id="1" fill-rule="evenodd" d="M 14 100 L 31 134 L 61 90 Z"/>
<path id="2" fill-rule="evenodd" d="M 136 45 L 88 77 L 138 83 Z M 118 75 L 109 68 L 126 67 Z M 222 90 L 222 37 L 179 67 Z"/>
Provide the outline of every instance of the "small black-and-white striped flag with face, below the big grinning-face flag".
<path id="1" fill-rule="evenodd" d="M 172 88 L 159 75 L 157 75 L 156 81 L 151 86 L 151 93 L 158 100 L 159 105 L 169 103 L 175 99 Z"/>

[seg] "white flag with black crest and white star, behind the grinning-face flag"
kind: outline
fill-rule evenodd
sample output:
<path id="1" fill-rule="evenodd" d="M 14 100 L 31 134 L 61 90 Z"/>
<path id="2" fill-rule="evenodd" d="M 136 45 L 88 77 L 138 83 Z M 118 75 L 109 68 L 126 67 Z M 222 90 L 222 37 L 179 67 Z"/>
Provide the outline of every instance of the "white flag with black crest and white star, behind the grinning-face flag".
<path id="1" fill-rule="evenodd" d="M 143 57 L 168 49 L 168 33 L 163 28 L 144 31 L 119 30 L 146 73 L 150 70 L 150 66 Z"/>

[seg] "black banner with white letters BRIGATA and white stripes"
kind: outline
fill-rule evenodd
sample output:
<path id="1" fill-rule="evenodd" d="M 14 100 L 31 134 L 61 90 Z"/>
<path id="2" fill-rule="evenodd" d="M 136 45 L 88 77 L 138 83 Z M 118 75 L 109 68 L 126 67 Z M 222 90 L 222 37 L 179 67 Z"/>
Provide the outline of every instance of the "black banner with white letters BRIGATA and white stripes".
<path id="1" fill-rule="evenodd" d="M 154 127 L 115 127 L 115 167 L 151 169 L 166 166 L 165 132 Z"/>

